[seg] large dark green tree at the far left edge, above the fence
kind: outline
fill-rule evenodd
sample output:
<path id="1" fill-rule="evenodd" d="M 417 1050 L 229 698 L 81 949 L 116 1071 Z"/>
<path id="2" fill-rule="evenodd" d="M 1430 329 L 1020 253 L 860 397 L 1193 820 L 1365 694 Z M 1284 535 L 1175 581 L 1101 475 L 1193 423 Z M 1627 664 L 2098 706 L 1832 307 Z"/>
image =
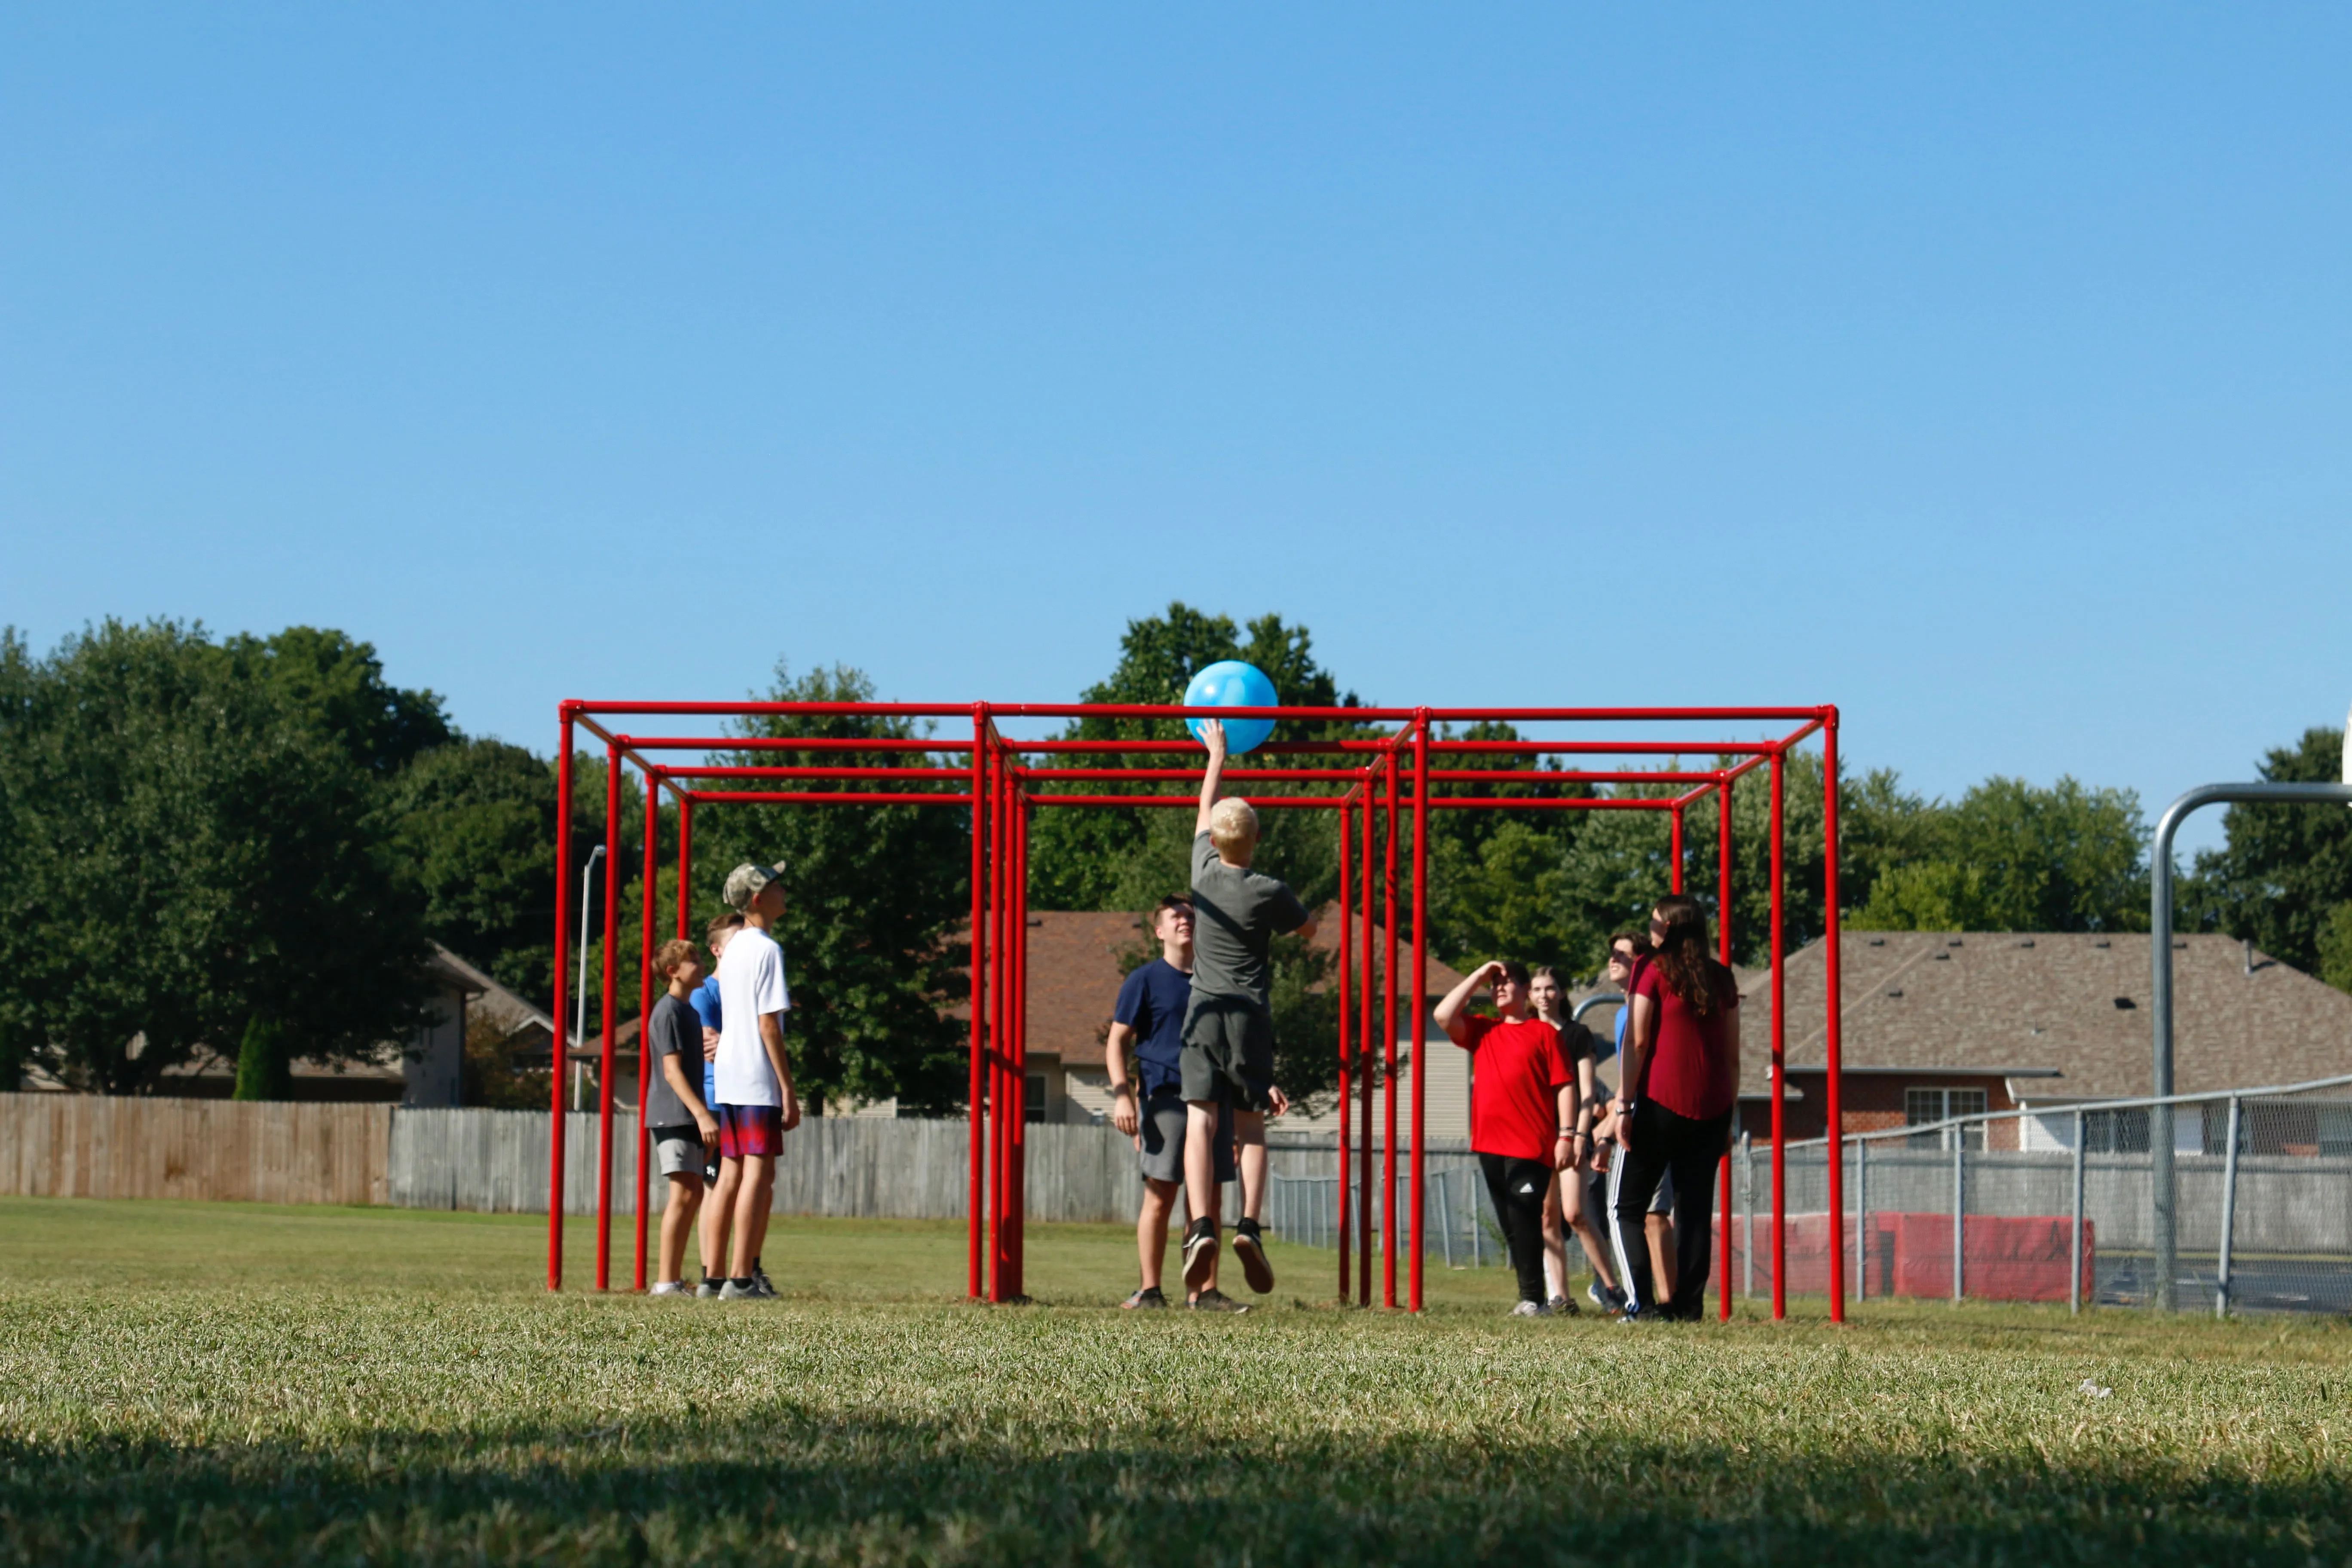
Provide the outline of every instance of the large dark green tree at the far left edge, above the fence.
<path id="1" fill-rule="evenodd" d="M 256 1013 L 313 1058 L 421 1020 L 423 922 L 369 773 L 202 628 L 0 635 L 0 1053 L 153 1093 Z"/>

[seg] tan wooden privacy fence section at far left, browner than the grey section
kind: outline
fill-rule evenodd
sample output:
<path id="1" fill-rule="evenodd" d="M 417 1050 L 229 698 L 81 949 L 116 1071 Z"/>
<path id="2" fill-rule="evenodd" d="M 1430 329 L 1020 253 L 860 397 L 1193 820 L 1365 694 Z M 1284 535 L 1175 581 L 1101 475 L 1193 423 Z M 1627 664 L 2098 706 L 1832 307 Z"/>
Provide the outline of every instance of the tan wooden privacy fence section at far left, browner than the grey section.
<path id="1" fill-rule="evenodd" d="M 0 1093 L 0 1194 L 388 1204 L 393 1114 L 390 1105 Z"/>

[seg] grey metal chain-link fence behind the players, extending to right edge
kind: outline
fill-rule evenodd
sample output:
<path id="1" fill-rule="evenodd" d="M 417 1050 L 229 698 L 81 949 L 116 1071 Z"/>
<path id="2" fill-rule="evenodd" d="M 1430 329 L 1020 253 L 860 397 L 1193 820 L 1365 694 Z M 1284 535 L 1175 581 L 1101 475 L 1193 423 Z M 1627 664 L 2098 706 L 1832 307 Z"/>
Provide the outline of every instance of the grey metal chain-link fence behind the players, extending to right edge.
<path id="1" fill-rule="evenodd" d="M 2152 1157 L 2166 1131 L 2171 1161 Z M 1331 1145 L 1277 1150 L 1268 1190 L 1277 1234 L 1305 1246 L 1338 1244 L 1336 1154 Z M 2159 1260 L 2169 1251 L 2180 1307 L 2352 1312 L 2352 1077 L 1952 1117 L 1846 1133 L 1839 1154 L 1837 1244 L 1849 1298 L 2140 1307 L 2159 1298 Z M 1783 1154 L 1778 1255 L 1790 1295 L 1830 1288 L 1828 1159 L 1820 1138 L 1790 1143 Z M 1731 1288 L 1769 1298 L 1771 1145 L 1743 1138 L 1729 1164 Z M 1350 1199 L 1359 1192 L 1352 1166 Z M 2171 1204 L 2161 1206 L 2166 1166 Z M 1409 1180 L 1399 1154 L 1399 1244 Z M 1458 1145 L 1432 1145 L 1423 1180 L 1425 1255 L 1451 1267 L 1508 1265 L 1477 1159 Z M 1376 1161 L 1376 1204 L 1378 1192 Z M 1381 1220 L 1376 1206 L 1374 1248 Z M 1677 1213 L 1677 1225 L 1689 1220 L 1696 1215 Z M 1719 1248 L 1722 1237 L 1717 1258 Z M 1576 1267 L 1573 1246 L 1569 1258 Z"/>

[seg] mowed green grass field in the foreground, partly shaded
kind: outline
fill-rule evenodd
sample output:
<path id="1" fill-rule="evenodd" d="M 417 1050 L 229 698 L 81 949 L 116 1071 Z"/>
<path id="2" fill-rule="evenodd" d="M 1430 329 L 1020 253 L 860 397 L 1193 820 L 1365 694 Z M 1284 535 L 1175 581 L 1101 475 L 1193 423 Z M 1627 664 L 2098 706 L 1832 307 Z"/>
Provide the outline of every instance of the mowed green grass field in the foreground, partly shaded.
<path id="1" fill-rule="evenodd" d="M 0 1559 L 2352 1561 L 2340 1321 L 1613 1328 L 1498 1269 L 1409 1321 L 1296 1248 L 1145 1316 L 1120 1227 L 1035 1227 L 1040 1305 L 983 1309 L 960 1227 L 804 1220 L 722 1307 L 550 1298 L 543 1237 L 0 1199 Z"/>

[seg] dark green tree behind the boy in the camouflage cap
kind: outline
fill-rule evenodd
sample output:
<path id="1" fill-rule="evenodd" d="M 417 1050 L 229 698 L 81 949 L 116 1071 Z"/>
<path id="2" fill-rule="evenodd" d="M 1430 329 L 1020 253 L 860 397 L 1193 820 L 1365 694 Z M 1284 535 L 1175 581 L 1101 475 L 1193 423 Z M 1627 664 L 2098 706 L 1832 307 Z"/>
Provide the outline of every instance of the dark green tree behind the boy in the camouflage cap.
<path id="1" fill-rule="evenodd" d="M 774 703 L 870 703 L 873 682 L 847 665 L 793 677 L 781 663 Z M 917 738 L 891 717 L 753 717 L 746 738 Z M 851 766 L 938 766 L 920 752 L 833 752 Z M 776 762 L 746 752 L 736 762 Z M 811 799 L 868 783 L 774 783 Z M 948 790 L 953 792 L 953 790 Z M 950 806 L 713 804 L 694 813 L 696 907 L 717 912 L 727 872 L 783 860 L 783 943 L 793 1013 L 793 1074 L 811 1110 L 826 1100 L 898 1098 L 908 1112 L 964 1100 L 971 816 Z"/>

